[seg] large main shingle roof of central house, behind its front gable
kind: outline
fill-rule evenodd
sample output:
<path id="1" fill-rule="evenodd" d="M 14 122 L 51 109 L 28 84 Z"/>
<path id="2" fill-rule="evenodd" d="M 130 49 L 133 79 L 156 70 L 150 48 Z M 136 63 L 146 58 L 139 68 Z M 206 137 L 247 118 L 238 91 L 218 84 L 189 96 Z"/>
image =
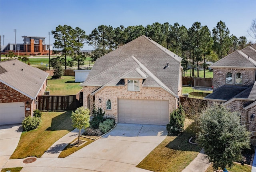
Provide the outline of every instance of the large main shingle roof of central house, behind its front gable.
<path id="1" fill-rule="evenodd" d="M 98 58 L 86 78 L 86 81 L 81 84 L 81 86 L 88 84 L 89 82 L 92 85 L 105 85 L 110 81 L 106 75 L 112 78 L 114 76 L 118 76 L 118 74 L 124 74 L 124 72 L 127 72 L 128 70 L 137 68 L 138 64 L 134 64 L 134 62 L 130 62 L 128 60 L 124 61 L 131 56 L 134 56 L 134 58 L 143 64 L 146 69 L 150 70 L 156 78 L 164 83 L 164 85 L 172 90 L 172 92 L 178 95 L 180 61 L 182 58 L 146 36 L 140 36 L 124 46 L 121 46 L 101 58 Z M 167 63 L 169 64 L 169 67 L 164 68 Z M 111 69 L 112 66 L 116 64 L 118 64 L 119 67 Z M 108 72 L 104 74 L 104 71 L 107 70 Z M 101 76 L 100 79 L 93 81 L 92 79 L 99 74 L 104 74 L 105 77 Z M 145 83 L 155 84 L 156 82 L 153 81 L 150 78 L 146 78 Z"/>

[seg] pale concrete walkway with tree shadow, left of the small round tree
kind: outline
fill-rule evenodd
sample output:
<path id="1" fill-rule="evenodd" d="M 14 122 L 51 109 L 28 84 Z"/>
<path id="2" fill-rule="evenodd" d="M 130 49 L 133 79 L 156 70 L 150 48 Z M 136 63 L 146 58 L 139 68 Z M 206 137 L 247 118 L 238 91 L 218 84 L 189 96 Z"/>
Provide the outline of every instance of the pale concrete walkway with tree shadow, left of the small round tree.
<path id="1" fill-rule="evenodd" d="M 84 129 L 81 130 L 81 134 L 84 133 Z M 72 140 L 78 137 L 79 130 L 76 128 L 73 131 L 69 132 L 62 138 L 60 138 L 57 142 L 55 142 L 44 154 L 41 158 L 58 158 L 61 151 L 70 143 Z"/>

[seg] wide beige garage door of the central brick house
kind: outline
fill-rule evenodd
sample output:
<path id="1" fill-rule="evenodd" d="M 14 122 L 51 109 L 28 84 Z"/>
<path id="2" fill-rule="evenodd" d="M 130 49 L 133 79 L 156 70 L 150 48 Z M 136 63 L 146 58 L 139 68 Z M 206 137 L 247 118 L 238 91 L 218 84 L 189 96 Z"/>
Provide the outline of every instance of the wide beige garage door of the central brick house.
<path id="1" fill-rule="evenodd" d="M 118 100 L 118 122 L 166 125 L 169 123 L 167 100 Z"/>

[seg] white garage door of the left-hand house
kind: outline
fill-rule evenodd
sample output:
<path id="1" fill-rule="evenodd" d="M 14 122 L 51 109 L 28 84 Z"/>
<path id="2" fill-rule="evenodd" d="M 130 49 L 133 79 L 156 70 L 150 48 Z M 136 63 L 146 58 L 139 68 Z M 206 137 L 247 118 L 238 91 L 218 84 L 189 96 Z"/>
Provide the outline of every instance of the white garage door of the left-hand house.
<path id="1" fill-rule="evenodd" d="M 0 104 L 0 124 L 19 124 L 24 120 L 24 102 L 1 103 Z"/>

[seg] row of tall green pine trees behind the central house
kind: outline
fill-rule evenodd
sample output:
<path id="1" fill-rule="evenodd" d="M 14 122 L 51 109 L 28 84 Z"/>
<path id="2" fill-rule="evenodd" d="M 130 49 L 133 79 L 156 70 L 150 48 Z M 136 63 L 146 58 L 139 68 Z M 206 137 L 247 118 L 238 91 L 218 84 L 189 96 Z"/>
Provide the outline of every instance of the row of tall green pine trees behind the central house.
<path id="1" fill-rule="evenodd" d="M 172 25 L 168 22 L 164 24 L 155 22 L 146 27 L 139 25 L 113 28 L 112 26 L 100 25 L 88 35 L 81 28 L 59 25 L 56 30 L 52 30 L 52 35 L 55 39 L 54 48 L 62 52 L 65 69 L 67 65 L 72 66 L 75 61 L 78 62 L 78 68 L 83 64 L 84 59 L 88 56 L 88 54 L 81 52 L 85 43 L 94 48 L 90 54 L 91 60 L 94 62 L 108 52 L 139 36 L 146 35 L 182 57 L 184 69 L 190 64 L 192 68 L 190 76 L 196 76 L 194 68 L 198 69 L 200 62 L 203 62 L 204 77 L 206 62 L 215 62 L 252 43 L 247 42 L 245 36 L 237 38 L 233 34 L 230 35 L 228 27 L 222 21 L 218 22 L 212 31 L 207 26 L 202 26 L 200 22 L 194 22 L 190 28 L 180 26 L 178 23 Z M 67 62 L 66 56 L 71 56 L 73 60 Z M 199 70 L 197 70 L 197 77 L 199 77 Z"/>

